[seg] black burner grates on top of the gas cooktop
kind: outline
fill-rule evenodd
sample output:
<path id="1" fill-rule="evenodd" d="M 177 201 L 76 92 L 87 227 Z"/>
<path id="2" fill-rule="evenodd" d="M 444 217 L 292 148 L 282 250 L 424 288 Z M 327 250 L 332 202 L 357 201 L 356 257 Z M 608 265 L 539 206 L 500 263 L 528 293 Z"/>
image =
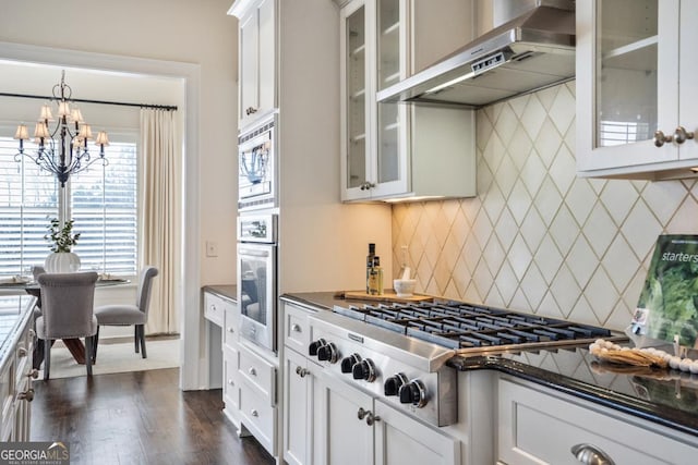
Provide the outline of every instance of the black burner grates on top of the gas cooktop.
<path id="1" fill-rule="evenodd" d="M 612 335 L 605 328 L 460 302 L 335 306 L 334 311 L 454 350 L 547 345 Z"/>

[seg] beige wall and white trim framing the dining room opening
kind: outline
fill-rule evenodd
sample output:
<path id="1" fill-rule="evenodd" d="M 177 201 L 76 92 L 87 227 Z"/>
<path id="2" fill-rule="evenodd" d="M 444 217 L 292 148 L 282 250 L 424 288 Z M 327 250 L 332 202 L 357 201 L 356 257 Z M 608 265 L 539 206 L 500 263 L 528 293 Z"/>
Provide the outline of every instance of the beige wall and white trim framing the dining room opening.
<path id="1" fill-rule="evenodd" d="M 203 365 L 198 289 L 234 281 L 237 21 L 226 14 L 229 7 L 230 0 L 123 0 L 98 9 L 87 0 L 0 0 L 0 60 L 185 82 L 186 224 L 179 283 L 188 339 L 184 389 L 204 383 L 197 368 Z M 5 85 L 0 76 L 0 91 Z M 141 97 L 147 102 L 147 95 Z M 218 257 L 205 258 L 206 240 L 218 243 Z"/>

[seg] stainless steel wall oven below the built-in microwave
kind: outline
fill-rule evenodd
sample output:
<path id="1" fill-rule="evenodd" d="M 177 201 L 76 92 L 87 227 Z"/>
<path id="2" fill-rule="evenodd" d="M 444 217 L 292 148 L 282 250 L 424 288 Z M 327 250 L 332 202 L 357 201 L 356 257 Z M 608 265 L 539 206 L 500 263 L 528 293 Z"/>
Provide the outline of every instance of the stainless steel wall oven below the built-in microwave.
<path id="1" fill-rule="evenodd" d="M 240 335 L 276 352 L 276 215 L 238 217 Z"/>

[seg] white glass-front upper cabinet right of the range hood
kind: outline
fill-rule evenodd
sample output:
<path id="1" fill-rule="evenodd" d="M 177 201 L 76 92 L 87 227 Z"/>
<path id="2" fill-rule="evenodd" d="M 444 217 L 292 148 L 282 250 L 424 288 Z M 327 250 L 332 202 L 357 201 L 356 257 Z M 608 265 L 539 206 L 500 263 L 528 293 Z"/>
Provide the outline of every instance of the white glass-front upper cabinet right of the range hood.
<path id="1" fill-rule="evenodd" d="M 579 0 L 576 14 L 579 174 L 695 175 L 698 3 Z"/>

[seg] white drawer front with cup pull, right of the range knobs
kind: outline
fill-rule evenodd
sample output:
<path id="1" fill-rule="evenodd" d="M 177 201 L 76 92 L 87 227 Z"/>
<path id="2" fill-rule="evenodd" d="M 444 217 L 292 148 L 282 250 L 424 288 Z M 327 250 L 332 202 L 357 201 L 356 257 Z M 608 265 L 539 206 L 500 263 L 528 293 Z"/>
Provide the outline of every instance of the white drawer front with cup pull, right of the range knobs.
<path id="1" fill-rule="evenodd" d="M 498 381 L 501 464 L 695 464 L 697 446 L 696 438 L 538 384 Z"/>

